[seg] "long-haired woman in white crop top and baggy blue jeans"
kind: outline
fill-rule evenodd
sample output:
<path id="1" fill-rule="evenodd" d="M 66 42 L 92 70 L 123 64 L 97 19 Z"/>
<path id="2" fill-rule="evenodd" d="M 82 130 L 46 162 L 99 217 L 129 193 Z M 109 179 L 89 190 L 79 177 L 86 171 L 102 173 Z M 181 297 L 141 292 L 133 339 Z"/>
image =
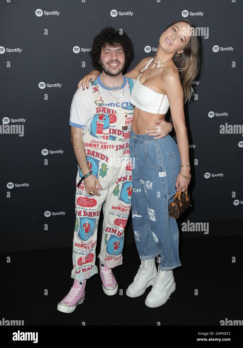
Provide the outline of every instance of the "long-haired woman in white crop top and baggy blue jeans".
<path id="1" fill-rule="evenodd" d="M 193 35 L 195 31 L 195 25 L 186 19 L 169 24 L 155 56 L 144 58 L 125 74 L 137 79 L 131 92 L 135 108 L 129 149 L 133 160 L 132 226 L 141 260 L 126 294 L 137 297 L 153 285 L 145 300 L 152 308 L 164 304 L 175 291 L 173 269 L 181 266 L 179 230 L 176 219 L 168 214 L 168 205 L 176 191 L 187 190 L 191 180 L 184 104 L 191 100 L 192 82 L 200 67 L 201 41 Z M 89 80 L 94 81 L 99 73 L 92 71 L 78 87 L 88 88 Z M 151 137 L 147 130 L 158 116 L 165 119 L 169 108 L 177 143 L 170 135 Z"/>

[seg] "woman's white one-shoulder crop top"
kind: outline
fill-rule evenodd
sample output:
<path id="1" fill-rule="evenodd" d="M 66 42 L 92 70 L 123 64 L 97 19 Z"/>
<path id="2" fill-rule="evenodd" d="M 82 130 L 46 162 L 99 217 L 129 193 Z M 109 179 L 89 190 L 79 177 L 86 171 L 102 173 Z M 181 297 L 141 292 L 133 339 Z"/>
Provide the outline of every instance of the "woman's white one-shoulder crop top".
<path id="1" fill-rule="evenodd" d="M 141 71 L 141 74 L 147 68 L 148 64 L 152 62 L 153 59 L 154 58 L 152 58 L 146 64 L 145 68 Z M 167 95 L 155 92 L 151 88 L 142 85 L 139 82 L 139 77 L 137 78 L 134 86 L 132 87 L 130 100 L 131 103 L 143 111 L 160 114 L 167 113 L 170 107 Z"/>

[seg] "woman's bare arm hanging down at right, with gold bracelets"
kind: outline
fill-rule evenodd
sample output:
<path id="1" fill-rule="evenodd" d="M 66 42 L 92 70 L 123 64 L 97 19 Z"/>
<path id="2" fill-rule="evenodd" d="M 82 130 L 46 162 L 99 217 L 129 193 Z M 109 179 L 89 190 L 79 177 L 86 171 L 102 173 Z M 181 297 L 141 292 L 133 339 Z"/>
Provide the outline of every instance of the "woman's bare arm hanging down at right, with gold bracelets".
<path id="1" fill-rule="evenodd" d="M 184 114 L 184 92 L 181 86 L 179 74 L 174 68 L 170 69 L 164 77 L 164 90 L 170 103 L 170 112 L 173 126 L 176 132 L 176 140 L 180 152 L 181 165 L 189 163 L 189 143 Z M 190 176 L 190 167 L 181 167 L 181 173 Z M 187 190 L 191 179 L 184 178 L 180 173 L 177 176 L 177 191 Z"/>

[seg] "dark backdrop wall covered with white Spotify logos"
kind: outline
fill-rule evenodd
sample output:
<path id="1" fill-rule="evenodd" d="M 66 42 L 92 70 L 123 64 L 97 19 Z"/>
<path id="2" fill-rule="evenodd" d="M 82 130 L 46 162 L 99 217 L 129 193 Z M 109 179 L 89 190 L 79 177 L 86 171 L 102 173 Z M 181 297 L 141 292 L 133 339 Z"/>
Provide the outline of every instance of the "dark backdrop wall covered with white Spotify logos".
<path id="1" fill-rule="evenodd" d="M 155 55 L 165 27 L 183 18 L 202 29 L 203 64 L 185 106 L 192 206 L 178 223 L 185 237 L 242 232 L 241 1 L 3 0 L 0 9 L 2 251 L 72 246 L 70 106 L 93 69 L 94 35 L 107 25 L 126 31 L 133 69 Z"/>

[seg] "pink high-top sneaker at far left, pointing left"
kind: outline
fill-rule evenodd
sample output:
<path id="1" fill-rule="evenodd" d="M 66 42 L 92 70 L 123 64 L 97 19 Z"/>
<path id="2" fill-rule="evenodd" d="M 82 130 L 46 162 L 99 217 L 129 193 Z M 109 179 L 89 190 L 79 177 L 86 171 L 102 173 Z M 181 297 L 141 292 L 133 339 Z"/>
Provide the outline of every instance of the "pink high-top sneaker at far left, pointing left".
<path id="1" fill-rule="evenodd" d="M 83 303 L 85 298 L 85 286 L 86 280 L 82 280 L 82 282 L 78 282 L 78 280 L 74 279 L 73 286 L 69 293 L 60 301 L 57 305 L 57 309 L 63 313 L 72 313 L 77 304 Z"/>

